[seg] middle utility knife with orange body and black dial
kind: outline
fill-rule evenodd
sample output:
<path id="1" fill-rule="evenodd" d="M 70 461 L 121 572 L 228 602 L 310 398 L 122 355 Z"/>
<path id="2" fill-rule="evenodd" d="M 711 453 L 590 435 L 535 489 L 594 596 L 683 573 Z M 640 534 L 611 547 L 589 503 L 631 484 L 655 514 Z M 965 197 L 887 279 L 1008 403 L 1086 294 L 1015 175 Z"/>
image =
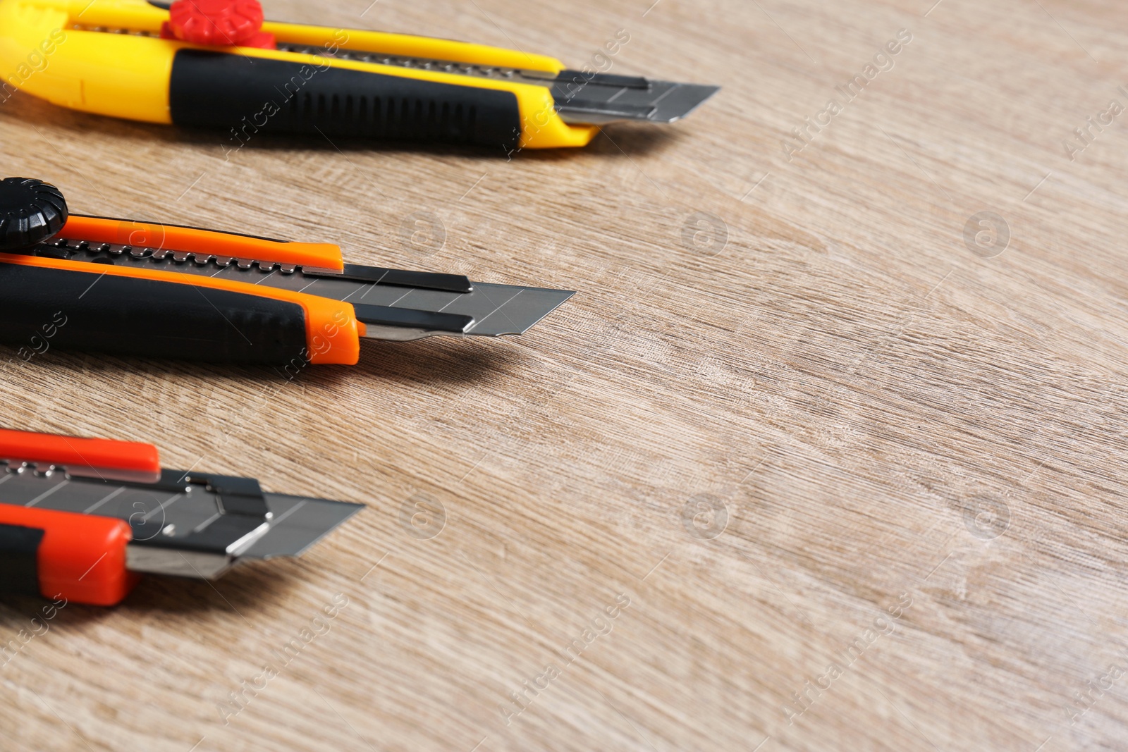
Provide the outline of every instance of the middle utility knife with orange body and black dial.
<path id="1" fill-rule="evenodd" d="M 364 337 L 522 334 L 572 294 L 345 264 L 332 244 L 69 214 L 51 185 L 0 180 L 0 343 L 20 352 L 42 343 L 220 363 L 354 364 Z"/>

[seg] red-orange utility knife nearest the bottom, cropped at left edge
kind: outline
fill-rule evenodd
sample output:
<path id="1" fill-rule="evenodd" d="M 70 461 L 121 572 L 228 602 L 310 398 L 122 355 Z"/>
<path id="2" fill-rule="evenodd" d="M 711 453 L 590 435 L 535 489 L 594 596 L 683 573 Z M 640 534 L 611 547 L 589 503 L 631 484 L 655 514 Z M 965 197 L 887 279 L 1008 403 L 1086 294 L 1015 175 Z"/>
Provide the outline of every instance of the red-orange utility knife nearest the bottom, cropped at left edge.
<path id="1" fill-rule="evenodd" d="M 141 574 L 299 556 L 361 508 L 162 470 L 151 444 L 0 428 L 0 592 L 113 605 Z"/>

